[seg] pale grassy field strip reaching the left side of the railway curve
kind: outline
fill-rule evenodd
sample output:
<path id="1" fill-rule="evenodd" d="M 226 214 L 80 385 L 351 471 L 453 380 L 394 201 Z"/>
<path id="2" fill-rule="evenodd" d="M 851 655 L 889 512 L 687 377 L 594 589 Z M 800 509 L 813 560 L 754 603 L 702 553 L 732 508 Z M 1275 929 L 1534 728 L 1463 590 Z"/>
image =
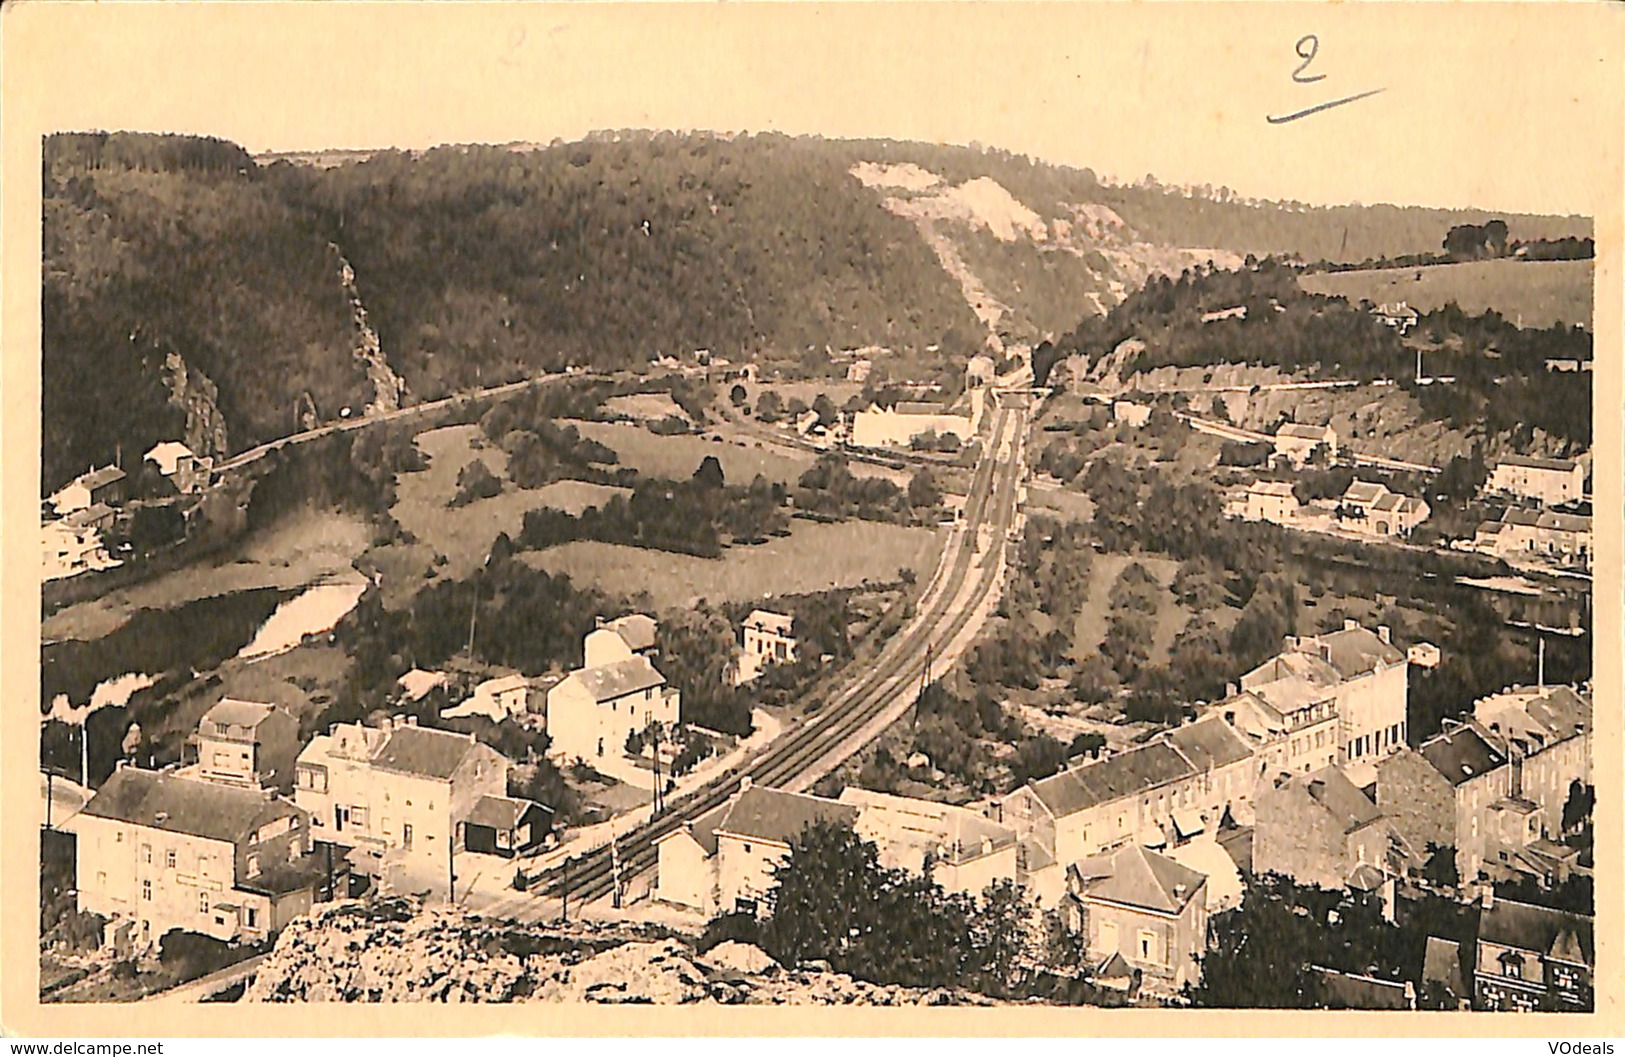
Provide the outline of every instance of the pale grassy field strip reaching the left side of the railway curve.
<path id="1" fill-rule="evenodd" d="M 925 579 L 936 558 L 934 530 L 878 522 L 795 522 L 791 535 L 759 546 L 728 548 L 720 559 L 596 542 L 523 555 L 538 569 L 567 572 L 578 584 L 593 584 L 609 594 L 648 592 L 656 610 L 692 605 L 699 598 L 746 600 L 890 581 L 900 568 Z"/>

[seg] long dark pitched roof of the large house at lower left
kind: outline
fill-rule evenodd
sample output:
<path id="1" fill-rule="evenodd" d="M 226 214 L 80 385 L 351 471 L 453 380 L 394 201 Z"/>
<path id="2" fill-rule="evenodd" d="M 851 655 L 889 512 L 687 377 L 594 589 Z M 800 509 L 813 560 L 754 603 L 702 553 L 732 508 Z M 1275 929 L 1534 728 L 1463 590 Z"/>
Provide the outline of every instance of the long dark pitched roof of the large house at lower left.
<path id="1" fill-rule="evenodd" d="M 288 800 L 254 789 L 128 766 L 102 782 L 83 813 L 232 844 L 268 820 L 301 815 Z"/>

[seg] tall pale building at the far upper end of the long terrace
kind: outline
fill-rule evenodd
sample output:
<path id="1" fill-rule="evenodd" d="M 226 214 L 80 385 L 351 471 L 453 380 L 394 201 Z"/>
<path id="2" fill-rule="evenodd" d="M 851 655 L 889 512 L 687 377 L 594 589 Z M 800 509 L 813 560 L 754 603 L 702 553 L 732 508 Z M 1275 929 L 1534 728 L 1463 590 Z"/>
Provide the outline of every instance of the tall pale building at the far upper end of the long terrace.
<path id="1" fill-rule="evenodd" d="M 1406 743 L 1407 663 L 1386 626 L 1368 631 L 1346 620 L 1342 631 L 1287 636 L 1280 654 L 1242 676 L 1242 689 L 1287 714 L 1329 698 L 1337 716 L 1336 763 L 1354 764 L 1350 777 L 1363 787 L 1370 763 Z M 1324 719 L 1311 709 L 1310 719 L 1316 716 Z M 1300 748 L 1310 751 L 1308 745 Z"/>

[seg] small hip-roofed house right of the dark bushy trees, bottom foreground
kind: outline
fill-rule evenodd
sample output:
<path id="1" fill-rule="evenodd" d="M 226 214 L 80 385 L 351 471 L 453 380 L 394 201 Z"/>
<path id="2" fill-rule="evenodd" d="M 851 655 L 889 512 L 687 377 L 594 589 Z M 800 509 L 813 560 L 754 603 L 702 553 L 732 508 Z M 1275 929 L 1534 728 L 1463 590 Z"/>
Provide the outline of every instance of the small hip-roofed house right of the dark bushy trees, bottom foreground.
<path id="1" fill-rule="evenodd" d="M 1149 994 L 1201 981 L 1207 950 L 1207 878 L 1131 844 L 1066 870 L 1061 919 L 1086 940 L 1092 976 L 1138 977 Z"/>

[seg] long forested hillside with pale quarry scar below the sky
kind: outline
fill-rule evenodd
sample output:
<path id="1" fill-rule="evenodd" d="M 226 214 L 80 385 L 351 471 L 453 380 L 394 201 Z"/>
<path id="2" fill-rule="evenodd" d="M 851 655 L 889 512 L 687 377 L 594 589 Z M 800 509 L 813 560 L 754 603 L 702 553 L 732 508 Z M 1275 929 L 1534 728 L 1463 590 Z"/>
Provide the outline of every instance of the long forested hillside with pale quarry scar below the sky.
<path id="1" fill-rule="evenodd" d="M 864 164 L 933 185 L 866 185 Z M 954 361 L 988 335 L 1064 333 L 1194 260 L 1432 252 L 1477 218 L 1190 198 L 894 141 L 627 132 L 323 167 L 221 140 L 65 133 L 44 150 L 42 485 L 120 446 L 125 465 L 174 436 L 219 455 L 361 413 L 380 368 L 369 379 L 356 355 L 346 260 L 411 403 L 700 348 Z"/>

